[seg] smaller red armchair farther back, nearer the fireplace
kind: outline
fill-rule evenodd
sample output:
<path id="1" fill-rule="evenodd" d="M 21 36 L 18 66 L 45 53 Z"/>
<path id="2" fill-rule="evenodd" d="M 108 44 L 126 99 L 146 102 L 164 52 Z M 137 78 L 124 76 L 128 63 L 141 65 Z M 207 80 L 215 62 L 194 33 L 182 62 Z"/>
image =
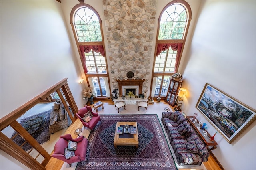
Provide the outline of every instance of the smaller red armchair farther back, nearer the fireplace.
<path id="1" fill-rule="evenodd" d="M 87 127 L 92 130 L 96 126 L 98 121 L 100 121 L 100 116 L 98 115 L 97 112 L 92 112 L 92 115 L 93 115 L 92 119 L 89 122 L 85 122 L 83 120 L 83 117 L 84 117 L 84 114 L 87 113 L 88 111 L 92 112 L 92 107 L 85 106 L 79 109 L 78 113 L 76 113 L 76 117 L 78 117 L 78 119 L 82 122 L 82 124 L 84 125 L 84 128 Z"/>

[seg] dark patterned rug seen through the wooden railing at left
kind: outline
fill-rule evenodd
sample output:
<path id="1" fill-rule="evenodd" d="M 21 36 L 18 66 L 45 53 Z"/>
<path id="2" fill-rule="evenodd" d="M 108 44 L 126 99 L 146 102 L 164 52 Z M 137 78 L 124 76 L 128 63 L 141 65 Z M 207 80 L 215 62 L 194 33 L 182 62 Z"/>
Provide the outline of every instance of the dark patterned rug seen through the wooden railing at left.
<path id="1" fill-rule="evenodd" d="M 50 112 L 51 110 L 44 111 L 20 120 L 20 125 L 24 127 L 39 144 L 43 144 L 44 142 L 50 140 Z M 21 146 L 24 144 L 25 140 L 20 135 L 16 134 L 17 132 L 12 134 L 12 141 L 14 141 L 18 146 Z M 26 142 L 21 148 L 27 151 L 32 148 L 32 146 Z"/>

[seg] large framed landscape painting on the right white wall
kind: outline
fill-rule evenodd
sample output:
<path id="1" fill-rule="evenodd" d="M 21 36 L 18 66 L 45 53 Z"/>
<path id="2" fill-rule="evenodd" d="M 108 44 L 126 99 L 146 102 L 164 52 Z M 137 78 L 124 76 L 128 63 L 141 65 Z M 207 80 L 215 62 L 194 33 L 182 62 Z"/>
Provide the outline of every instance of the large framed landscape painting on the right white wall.
<path id="1" fill-rule="evenodd" d="M 196 109 L 229 142 L 233 142 L 256 118 L 256 111 L 206 83 Z"/>

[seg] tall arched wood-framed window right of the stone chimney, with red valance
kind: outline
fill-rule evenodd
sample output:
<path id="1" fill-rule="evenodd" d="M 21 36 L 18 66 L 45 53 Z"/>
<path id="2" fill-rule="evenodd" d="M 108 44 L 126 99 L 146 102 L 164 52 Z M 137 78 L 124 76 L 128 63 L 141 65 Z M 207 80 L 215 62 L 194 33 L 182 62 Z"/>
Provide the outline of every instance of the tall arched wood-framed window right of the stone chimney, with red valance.
<path id="1" fill-rule="evenodd" d="M 172 1 L 162 10 L 158 20 L 151 96 L 166 97 L 170 77 L 179 67 L 190 20 L 191 9 L 185 1 Z"/>

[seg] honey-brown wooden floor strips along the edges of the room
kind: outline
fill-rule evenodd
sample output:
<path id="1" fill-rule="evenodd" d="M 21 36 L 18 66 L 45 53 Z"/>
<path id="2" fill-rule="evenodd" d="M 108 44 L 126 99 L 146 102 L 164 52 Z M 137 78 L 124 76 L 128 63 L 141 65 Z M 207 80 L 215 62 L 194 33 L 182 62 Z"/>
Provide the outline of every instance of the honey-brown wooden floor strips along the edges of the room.
<path id="1" fill-rule="evenodd" d="M 94 102 L 97 102 L 97 101 L 94 100 Z M 104 105 L 106 105 L 106 104 L 114 105 L 114 103 L 111 100 L 104 101 Z M 90 105 L 90 104 L 87 104 L 87 105 Z M 91 105 L 91 107 L 92 107 L 92 105 Z M 72 124 L 72 125 L 70 125 L 70 127 L 68 127 L 68 129 L 66 130 L 65 134 L 71 134 L 72 138 L 76 138 L 77 135 L 74 134 L 74 130 L 76 130 L 77 128 L 82 128 L 82 126 L 83 125 L 82 125 L 81 121 L 79 119 L 77 119 L 74 122 L 74 124 Z M 51 158 L 50 161 L 48 162 L 48 164 L 46 165 L 46 170 L 60 170 L 60 168 L 62 167 L 63 163 L 64 162 L 61 161 L 61 160 L 58 160 L 56 158 Z M 211 152 L 210 152 L 210 156 L 208 158 L 208 161 L 204 162 L 204 166 L 208 170 L 223 170 L 223 168 L 221 168 L 218 165 L 218 163 L 214 159 L 214 155 L 212 155 Z M 182 169 L 182 170 L 189 170 L 189 169 Z"/>

